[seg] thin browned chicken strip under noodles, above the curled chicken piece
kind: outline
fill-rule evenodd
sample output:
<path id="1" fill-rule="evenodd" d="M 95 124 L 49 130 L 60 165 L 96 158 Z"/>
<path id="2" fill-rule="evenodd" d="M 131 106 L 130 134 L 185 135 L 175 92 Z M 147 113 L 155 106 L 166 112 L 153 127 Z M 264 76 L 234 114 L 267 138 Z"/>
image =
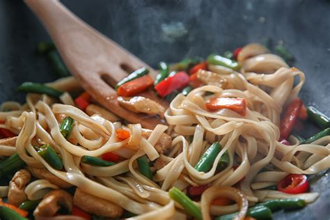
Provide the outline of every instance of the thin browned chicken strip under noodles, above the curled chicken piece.
<path id="1" fill-rule="evenodd" d="M 50 173 L 47 168 L 36 168 L 33 166 L 28 166 L 27 169 L 31 172 L 31 174 L 38 179 L 45 179 L 49 182 L 52 182 L 52 184 L 55 184 L 56 186 L 60 188 L 70 188 L 72 187 L 71 184 L 68 182 L 65 182 L 58 178 L 56 175 Z"/>

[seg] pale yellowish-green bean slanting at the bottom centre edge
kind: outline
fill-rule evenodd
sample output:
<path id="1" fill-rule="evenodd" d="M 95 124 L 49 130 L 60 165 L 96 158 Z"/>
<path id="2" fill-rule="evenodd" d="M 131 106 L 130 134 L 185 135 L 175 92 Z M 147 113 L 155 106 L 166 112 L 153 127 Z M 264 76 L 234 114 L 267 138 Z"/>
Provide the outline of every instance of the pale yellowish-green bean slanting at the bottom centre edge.
<path id="1" fill-rule="evenodd" d="M 195 205 L 191 199 L 186 196 L 180 189 L 173 187 L 170 191 L 168 191 L 168 195 L 177 203 L 182 205 L 184 210 L 186 210 L 192 217 L 195 217 L 198 220 L 202 220 L 202 212 L 201 209 Z"/>

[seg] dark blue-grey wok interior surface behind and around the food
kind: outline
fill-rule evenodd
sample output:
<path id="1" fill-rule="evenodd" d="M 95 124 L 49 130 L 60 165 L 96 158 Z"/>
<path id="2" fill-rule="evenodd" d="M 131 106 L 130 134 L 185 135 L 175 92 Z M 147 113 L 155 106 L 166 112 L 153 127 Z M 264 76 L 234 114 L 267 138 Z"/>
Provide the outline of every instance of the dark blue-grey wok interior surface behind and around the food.
<path id="1" fill-rule="evenodd" d="M 294 66 L 306 74 L 300 97 L 330 115 L 330 1 L 63 1 L 95 29 L 157 68 L 159 61 L 233 50 L 249 42 L 283 41 Z M 0 102 L 19 100 L 24 81 L 57 75 L 36 45 L 49 36 L 23 1 L 0 1 Z M 307 127 L 307 126 L 306 126 Z M 317 128 L 308 125 L 305 136 Z M 328 219 L 329 171 L 311 178 L 320 198 L 299 212 L 274 219 Z"/>

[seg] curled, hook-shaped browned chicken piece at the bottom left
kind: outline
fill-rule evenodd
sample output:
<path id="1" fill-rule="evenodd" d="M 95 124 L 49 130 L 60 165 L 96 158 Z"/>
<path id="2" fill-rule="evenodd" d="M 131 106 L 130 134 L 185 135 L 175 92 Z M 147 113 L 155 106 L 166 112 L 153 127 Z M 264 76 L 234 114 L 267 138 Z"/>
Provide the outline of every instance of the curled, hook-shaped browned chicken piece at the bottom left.
<path id="1" fill-rule="evenodd" d="M 63 189 L 50 191 L 33 212 L 34 217 L 52 217 L 62 207 L 65 207 L 70 213 L 73 206 L 72 196 Z"/>

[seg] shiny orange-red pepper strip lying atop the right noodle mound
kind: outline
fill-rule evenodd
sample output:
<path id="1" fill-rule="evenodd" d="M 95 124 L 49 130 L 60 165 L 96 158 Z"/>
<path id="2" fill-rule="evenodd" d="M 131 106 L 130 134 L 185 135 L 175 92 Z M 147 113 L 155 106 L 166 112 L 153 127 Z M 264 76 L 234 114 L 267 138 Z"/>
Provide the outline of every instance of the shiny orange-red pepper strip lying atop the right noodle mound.
<path id="1" fill-rule="evenodd" d="M 209 111 L 230 109 L 236 111 L 241 116 L 245 116 L 246 114 L 246 101 L 239 97 L 211 97 L 205 103 L 205 107 Z"/>

